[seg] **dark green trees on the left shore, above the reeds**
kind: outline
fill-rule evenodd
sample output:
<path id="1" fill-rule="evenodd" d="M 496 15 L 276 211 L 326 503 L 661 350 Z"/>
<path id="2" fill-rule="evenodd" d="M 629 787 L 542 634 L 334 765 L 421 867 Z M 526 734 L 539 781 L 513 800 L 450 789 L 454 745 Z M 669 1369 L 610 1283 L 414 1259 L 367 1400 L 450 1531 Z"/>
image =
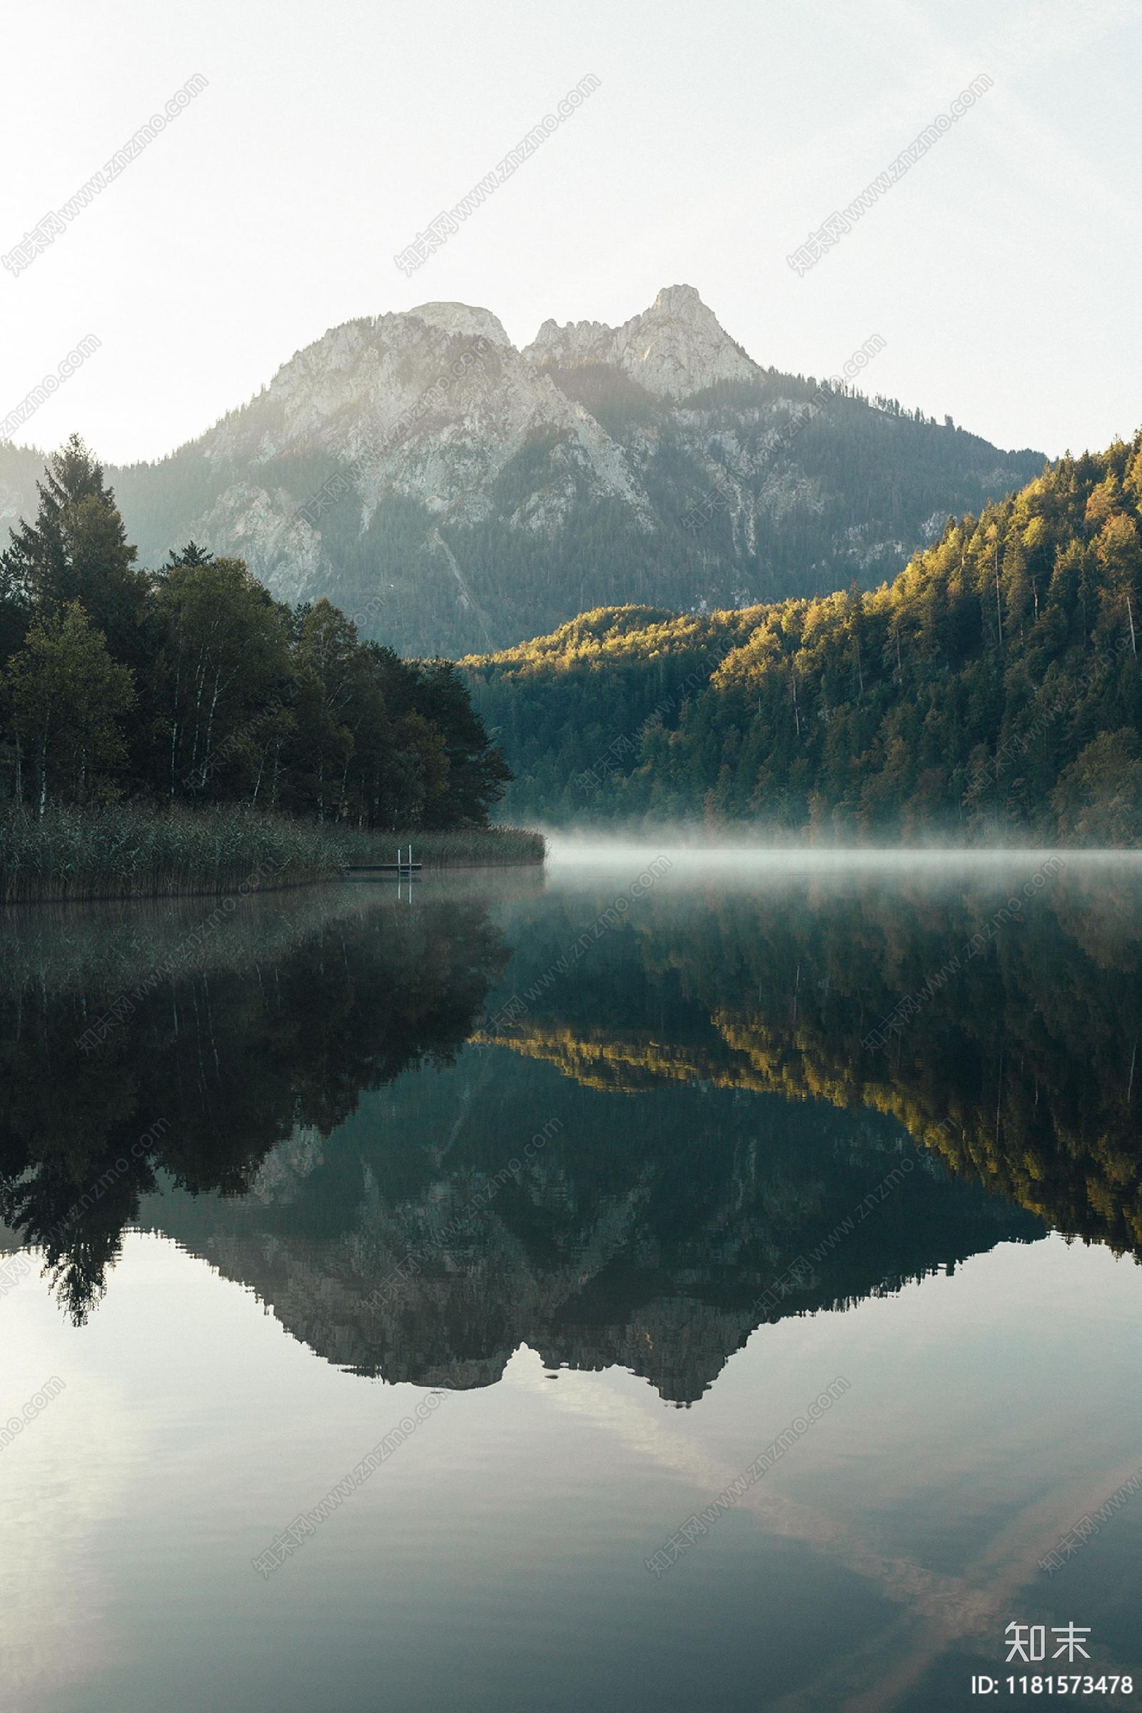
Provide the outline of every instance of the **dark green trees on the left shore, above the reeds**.
<path id="1" fill-rule="evenodd" d="M 72 435 L 0 555 L 9 802 L 245 802 L 361 827 L 486 826 L 510 778 L 452 661 L 361 641 L 327 600 L 276 601 L 190 541 L 135 565 Z"/>

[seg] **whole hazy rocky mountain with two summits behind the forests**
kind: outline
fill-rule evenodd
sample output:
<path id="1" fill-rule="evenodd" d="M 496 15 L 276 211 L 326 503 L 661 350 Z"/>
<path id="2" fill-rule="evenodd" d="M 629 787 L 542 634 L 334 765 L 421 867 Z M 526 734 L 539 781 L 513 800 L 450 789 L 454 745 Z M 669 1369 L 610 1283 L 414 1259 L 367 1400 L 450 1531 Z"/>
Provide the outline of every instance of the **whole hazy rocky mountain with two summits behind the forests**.
<path id="1" fill-rule="evenodd" d="M 0 445 L 2 521 L 34 512 L 41 463 Z M 548 320 L 522 351 L 464 303 L 346 322 L 197 440 L 108 475 L 144 564 L 193 538 L 402 653 L 462 654 L 599 605 L 878 582 L 1041 466 L 765 368 L 668 286 L 622 327 Z"/>

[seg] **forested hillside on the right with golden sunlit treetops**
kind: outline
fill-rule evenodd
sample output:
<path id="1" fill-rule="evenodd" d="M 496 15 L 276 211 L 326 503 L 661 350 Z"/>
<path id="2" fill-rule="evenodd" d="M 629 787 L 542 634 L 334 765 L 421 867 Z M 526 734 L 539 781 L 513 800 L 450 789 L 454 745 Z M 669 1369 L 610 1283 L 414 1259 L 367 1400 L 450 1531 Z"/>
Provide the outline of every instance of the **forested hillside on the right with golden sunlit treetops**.
<path id="1" fill-rule="evenodd" d="M 1140 505 L 1142 433 L 949 519 L 871 593 L 601 610 L 467 660 L 517 776 L 507 807 L 1142 843 Z"/>

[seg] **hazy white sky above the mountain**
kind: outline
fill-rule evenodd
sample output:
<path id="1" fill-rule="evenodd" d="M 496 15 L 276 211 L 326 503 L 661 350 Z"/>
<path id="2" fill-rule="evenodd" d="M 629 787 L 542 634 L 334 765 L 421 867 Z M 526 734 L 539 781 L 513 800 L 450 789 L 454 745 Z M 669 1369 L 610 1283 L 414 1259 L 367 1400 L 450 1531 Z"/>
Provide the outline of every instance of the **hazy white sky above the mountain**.
<path id="1" fill-rule="evenodd" d="M 1142 0 L 10 0 L 0 252 L 192 74 L 209 87 L 19 278 L 0 418 L 106 461 L 207 428 L 354 315 L 450 298 L 517 344 L 699 288 L 760 363 L 1050 454 L 1142 421 Z M 601 87 L 411 279 L 560 96 Z M 786 255 L 979 72 L 995 87 L 805 278 Z"/>

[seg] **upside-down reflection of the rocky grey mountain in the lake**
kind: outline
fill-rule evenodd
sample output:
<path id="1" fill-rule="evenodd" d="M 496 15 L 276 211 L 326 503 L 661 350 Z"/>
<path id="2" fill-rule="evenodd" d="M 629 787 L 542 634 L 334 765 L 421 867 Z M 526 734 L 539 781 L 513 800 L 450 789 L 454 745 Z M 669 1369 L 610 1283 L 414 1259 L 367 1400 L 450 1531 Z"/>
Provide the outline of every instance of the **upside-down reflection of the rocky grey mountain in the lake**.
<path id="1" fill-rule="evenodd" d="M 534 1163 L 474 1215 L 520 1144 Z M 883 1204 L 758 1307 L 901 1165 Z M 877 1113 L 707 1088 L 639 1101 L 488 1050 L 368 1096 L 332 1139 L 279 1149 L 241 1203 L 154 1197 L 144 1218 L 253 1285 L 330 1362 L 486 1386 L 527 1343 L 699 1398 L 762 1321 L 897 1288 L 1043 1227 L 950 1184 Z M 397 1262 L 416 1269 L 387 1290 Z"/>

